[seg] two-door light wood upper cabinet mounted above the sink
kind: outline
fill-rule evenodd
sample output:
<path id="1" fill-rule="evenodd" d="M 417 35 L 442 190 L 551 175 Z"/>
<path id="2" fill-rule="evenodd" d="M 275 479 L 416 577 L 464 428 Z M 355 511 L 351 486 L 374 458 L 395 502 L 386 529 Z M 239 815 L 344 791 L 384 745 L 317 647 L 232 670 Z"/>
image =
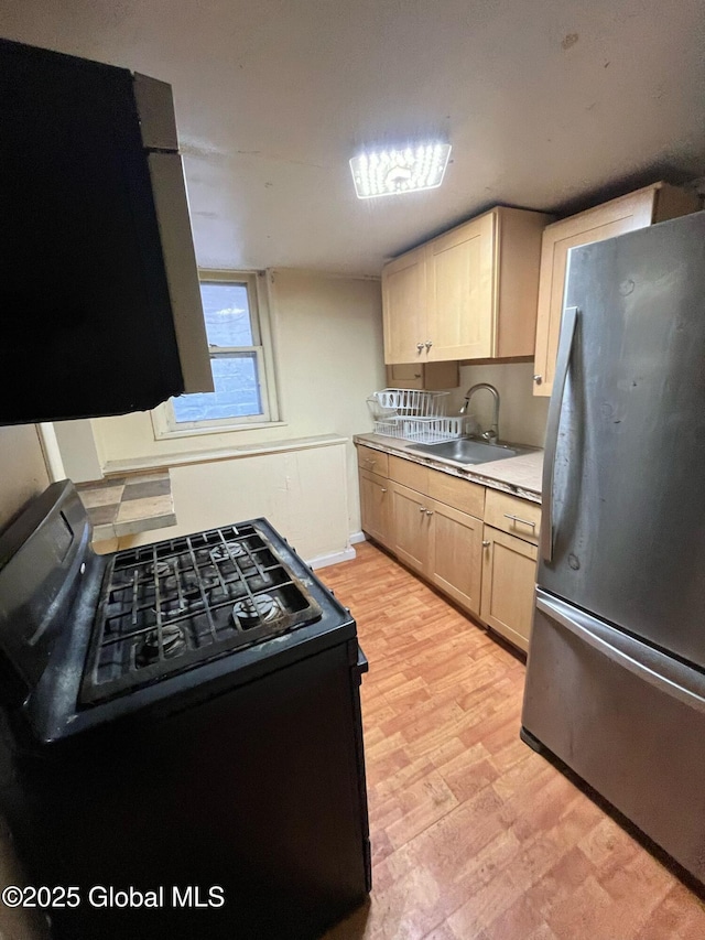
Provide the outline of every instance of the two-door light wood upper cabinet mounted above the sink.
<path id="1" fill-rule="evenodd" d="M 384 361 L 533 355 L 541 234 L 551 216 L 497 207 L 382 270 Z"/>

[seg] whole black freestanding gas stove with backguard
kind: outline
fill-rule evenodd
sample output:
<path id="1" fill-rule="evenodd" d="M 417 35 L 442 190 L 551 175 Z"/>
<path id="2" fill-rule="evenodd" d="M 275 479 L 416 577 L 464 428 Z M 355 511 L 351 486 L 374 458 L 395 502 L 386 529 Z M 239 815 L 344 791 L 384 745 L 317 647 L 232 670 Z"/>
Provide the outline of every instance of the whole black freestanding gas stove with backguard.
<path id="1" fill-rule="evenodd" d="M 31 883 L 226 904 L 84 899 L 53 937 L 319 936 L 370 886 L 349 611 L 265 519 L 112 555 L 90 536 L 68 482 L 0 536 L 0 813 Z"/>

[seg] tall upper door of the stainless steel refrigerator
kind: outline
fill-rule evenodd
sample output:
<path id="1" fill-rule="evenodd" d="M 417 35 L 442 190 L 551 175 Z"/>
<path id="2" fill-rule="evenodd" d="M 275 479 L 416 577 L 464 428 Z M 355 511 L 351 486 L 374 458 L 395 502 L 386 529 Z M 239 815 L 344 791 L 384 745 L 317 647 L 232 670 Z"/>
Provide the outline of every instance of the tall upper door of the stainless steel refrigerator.
<path id="1" fill-rule="evenodd" d="M 575 249 L 565 305 L 539 584 L 705 668 L 705 213 Z"/>

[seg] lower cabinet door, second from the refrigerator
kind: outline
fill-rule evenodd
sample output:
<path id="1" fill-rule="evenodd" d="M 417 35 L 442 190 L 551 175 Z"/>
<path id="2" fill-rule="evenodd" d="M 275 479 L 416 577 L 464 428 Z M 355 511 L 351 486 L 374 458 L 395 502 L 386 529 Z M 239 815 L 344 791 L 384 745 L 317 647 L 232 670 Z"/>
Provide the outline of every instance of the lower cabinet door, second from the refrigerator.
<path id="1" fill-rule="evenodd" d="M 433 500 L 429 579 L 466 611 L 480 613 L 482 522 Z"/>

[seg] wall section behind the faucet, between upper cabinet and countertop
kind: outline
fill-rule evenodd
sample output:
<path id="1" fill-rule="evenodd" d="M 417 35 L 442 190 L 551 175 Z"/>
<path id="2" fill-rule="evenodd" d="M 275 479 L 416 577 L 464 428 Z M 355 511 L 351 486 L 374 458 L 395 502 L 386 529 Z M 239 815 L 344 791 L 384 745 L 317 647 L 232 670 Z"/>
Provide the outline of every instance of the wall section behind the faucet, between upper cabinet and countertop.
<path id="1" fill-rule="evenodd" d="M 460 386 L 452 392 L 449 407 L 457 411 L 465 392 L 477 382 L 489 382 L 499 392 L 499 435 L 503 441 L 543 446 L 549 399 L 533 395 L 533 363 L 460 366 Z M 490 392 L 478 391 L 473 396 L 470 413 L 482 430 L 492 423 L 492 407 Z"/>

